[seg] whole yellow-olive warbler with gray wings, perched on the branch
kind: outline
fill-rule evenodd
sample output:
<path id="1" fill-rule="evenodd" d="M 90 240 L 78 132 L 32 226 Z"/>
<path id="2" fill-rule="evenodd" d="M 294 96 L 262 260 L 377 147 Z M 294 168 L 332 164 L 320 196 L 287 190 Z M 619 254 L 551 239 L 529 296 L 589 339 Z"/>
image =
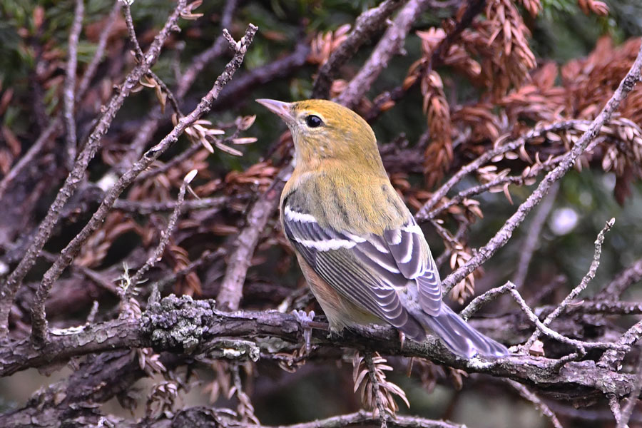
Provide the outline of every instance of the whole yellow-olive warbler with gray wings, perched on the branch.
<path id="1" fill-rule="evenodd" d="M 295 169 L 281 195 L 281 225 L 330 329 L 387 323 L 417 341 L 432 331 L 462 357 L 506 355 L 442 302 L 426 239 L 366 121 L 332 101 L 256 101 L 292 132 Z"/>

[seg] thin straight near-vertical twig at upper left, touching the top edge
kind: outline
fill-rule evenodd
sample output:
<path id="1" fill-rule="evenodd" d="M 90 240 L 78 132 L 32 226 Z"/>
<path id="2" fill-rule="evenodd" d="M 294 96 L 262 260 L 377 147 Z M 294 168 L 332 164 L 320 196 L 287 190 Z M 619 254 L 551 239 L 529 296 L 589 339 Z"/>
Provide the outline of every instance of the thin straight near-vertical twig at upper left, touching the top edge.
<path id="1" fill-rule="evenodd" d="M 83 0 L 76 0 L 76 9 L 73 11 L 73 23 L 69 31 L 69 42 L 67 46 L 67 66 L 65 73 L 65 86 L 63 91 L 65 131 L 67 136 L 67 169 L 73 168 L 76 161 L 76 149 L 78 146 L 76 137 L 76 68 L 78 67 L 78 39 L 83 29 L 83 14 L 85 6 Z"/>

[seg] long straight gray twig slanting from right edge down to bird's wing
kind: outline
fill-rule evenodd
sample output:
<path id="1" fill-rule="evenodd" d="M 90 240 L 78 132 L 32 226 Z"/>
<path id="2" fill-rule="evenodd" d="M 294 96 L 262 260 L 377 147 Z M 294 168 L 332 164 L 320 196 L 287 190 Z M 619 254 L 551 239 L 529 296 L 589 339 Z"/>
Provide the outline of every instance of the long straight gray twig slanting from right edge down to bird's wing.
<path id="1" fill-rule="evenodd" d="M 642 46 L 640 51 L 638 51 L 638 56 L 636 61 L 633 62 L 631 69 L 626 73 L 626 76 L 622 79 L 620 85 L 611 96 L 611 99 L 608 100 L 606 106 L 604 106 L 601 113 L 591 122 L 591 126 L 588 127 L 588 130 L 582 134 L 579 140 L 574 144 L 571 151 L 564 156 L 564 161 L 556 166 L 554 170 L 546 174 L 543 180 L 539 183 L 537 188 L 534 190 L 531 195 L 519 205 L 516 212 L 511 215 L 511 217 L 506 220 L 506 223 L 497 231 L 489 242 L 477 250 L 477 253 L 462 267 L 459 267 L 457 270 L 452 272 L 448 277 L 442 282 L 442 287 L 444 292 L 449 292 L 455 284 L 461 281 L 466 275 L 469 275 L 470 272 L 474 271 L 483 264 L 486 260 L 491 258 L 494 253 L 496 253 L 499 248 L 502 248 L 511 238 L 514 230 L 521 225 L 521 223 L 526 218 L 526 215 L 538 205 L 542 198 L 548 193 L 551 186 L 560 178 L 564 177 L 566 173 L 573 167 L 579 156 L 584 153 L 584 149 L 593 141 L 593 139 L 598 135 L 600 128 L 606 123 L 613 112 L 620 106 L 621 101 L 623 101 L 628 93 L 633 91 L 633 88 L 636 86 L 636 83 L 640 81 L 640 71 L 642 68 Z"/>

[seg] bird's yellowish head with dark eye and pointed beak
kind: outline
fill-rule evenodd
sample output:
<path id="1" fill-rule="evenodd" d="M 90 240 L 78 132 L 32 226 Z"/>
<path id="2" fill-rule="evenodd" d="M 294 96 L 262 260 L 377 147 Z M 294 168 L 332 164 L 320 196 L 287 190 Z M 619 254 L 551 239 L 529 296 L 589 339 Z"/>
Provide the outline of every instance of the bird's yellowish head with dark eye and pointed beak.
<path id="1" fill-rule="evenodd" d="M 297 165 L 301 161 L 316 163 L 332 159 L 382 168 L 372 128 L 349 108 L 326 100 L 284 103 L 264 98 L 256 101 L 277 114 L 290 128 Z"/>

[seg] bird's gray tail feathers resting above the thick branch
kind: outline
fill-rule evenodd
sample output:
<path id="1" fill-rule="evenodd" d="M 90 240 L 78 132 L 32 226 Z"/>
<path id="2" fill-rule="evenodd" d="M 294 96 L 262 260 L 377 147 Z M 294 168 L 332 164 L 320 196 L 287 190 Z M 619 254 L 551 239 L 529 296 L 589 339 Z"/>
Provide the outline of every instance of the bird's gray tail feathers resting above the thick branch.
<path id="1" fill-rule="evenodd" d="M 436 317 L 422 317 L 422 324 L 439 336 L 449 350 L 462 357 L 470 358 L 476 354 L 502 357 L 509 354 L 504 345 L 482 335 L 447 305 L 442 305 Z"/>

